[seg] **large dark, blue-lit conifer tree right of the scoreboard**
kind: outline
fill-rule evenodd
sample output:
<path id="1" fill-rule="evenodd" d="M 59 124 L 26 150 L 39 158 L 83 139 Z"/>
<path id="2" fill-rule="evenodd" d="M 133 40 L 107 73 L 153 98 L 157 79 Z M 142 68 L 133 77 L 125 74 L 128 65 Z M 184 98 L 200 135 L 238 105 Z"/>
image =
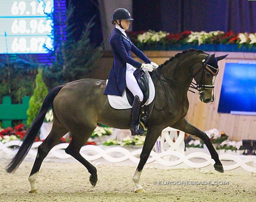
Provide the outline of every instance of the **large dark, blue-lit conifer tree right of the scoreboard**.
<path id="1" fill-rule="evenodd" d="M 55 50 L 52 54 L 56 60 L 53 61 L 52 66 L 43 70 L 43 77 L 49 89 L 70 81 L 87 78 L 93 70 L 98 68 L 95 61 L 102 56 L 102 44 L 96 46 L 89 38 L 91 28 L 95 25 L 94 17 L 85 24 L 85 30 L 80 39 L 75 40 L 76 28 L 71 22 L 73 16 L 74 6 L 69 2 L 67 20 L 62 22 L 61 17 L 53 19 L 56 20 L 55 24 L 59 24 L 61 31 L 56 32 L 54 38 Z M 66 37 L 63 34 L 64 25 L 67 31 Z"/>

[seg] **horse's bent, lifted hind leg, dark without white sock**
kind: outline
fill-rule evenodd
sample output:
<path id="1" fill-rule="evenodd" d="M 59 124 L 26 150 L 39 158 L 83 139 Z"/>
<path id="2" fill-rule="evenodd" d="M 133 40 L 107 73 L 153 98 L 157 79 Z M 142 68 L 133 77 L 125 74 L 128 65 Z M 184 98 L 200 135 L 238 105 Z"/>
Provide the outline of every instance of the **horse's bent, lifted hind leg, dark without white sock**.
<path id="1" fill-rule="evenodd" d="M 93 187 L 98 181 L 97 169 L 85 158 L 83 158 L 83 156 L 80 154 L 80 149 L 91 136 L 95 128 L 96 125 L 95 127 L 92 127 L 91 130 L 80 130 L 79 132 L 76 130 L 75 133 L 71 131 L 72 140 L 69 143 L 67 149 L 65 150 L 67 154 L 70 154 L 72 157 L 78 160 L 78 162 L 82 163 L 87 168 L 88 172 L 91 174 L 89 177 L 89 181 L 91 185 L 93 185 Z"/>

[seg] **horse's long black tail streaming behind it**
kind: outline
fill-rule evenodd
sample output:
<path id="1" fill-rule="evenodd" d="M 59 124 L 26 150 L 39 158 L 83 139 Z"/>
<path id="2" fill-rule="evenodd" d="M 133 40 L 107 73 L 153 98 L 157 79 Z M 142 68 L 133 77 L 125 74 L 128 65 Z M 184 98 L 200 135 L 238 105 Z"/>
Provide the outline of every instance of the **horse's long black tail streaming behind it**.
<path id="1" fill-rule="evenodd" d="M 50 90 L 50 92 L 46 95 L 46 97 L 43 101 L 43 105 L 42 105 L 39 113 L 37 114 L 35 120 L 33 121 L 32 126 L 30 127 L 30 129 L 28 129 L 28 131 L 25 134 L 26 138 L 23 141 L 22 145 L 20 146 L 19 151 L 17 152 L 17 154 L 13 157 L 13 159 L 9 162 L 9 164 L 6 167 L 6 171 L 8 173 L 16 171 L 17 168 L 19 167 L 20 163 L 24 160 L 24 158 L 28 154 L 28 151 L 32 147 L 32 144 L 35 141 L 35 138 L 40 130 L 40 127 L 43 124 L 45 115 L 46 115 L 49 107 L 52 106 L 54 98 L 59 93 L 59 91 L 61 90 L 62 87 L 63 87 L 63 85 L 56 86 L 56 87 L 52 88 L 52 90 Z"/>

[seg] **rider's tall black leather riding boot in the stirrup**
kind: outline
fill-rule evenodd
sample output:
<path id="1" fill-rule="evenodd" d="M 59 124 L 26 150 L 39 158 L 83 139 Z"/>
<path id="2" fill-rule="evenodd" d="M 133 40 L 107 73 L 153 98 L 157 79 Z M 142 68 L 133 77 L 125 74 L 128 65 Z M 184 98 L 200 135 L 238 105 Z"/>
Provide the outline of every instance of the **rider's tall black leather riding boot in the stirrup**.
<path id="1" fill-rule="evenodd" d="M 139 101 L 139 97 L 134 97 L 134 103 L 132 104 L 132 121 L 131 121 L 131 132 L 132 136 L 134 135 L 143 135 L 147 131 L 139 128 L 139 111 L 141 108 L 141 102 Z"/>

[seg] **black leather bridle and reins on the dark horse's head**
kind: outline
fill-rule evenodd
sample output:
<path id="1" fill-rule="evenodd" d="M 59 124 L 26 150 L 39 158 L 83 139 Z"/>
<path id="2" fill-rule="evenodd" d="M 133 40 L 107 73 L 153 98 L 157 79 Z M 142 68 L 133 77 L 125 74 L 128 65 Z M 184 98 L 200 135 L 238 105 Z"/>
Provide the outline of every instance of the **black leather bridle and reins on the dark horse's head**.
<path id="1" fill-rule="evenodd" d="M 205 85 L 204 84 L 204 80 L 205 80 L 205 73 L 206 73 L 206 70 L 208 70 L 213 76 L 217 75 L 218 72 L 219 72 L 219 68 L 215 68 L 209 64 L 207 64 L 210 60 L 210 57 L 211 55 L 208 55 L 206 57 L 206 59 L 203 59 L 202 60 L 202 66 L 201 68 L 199 68 L 197 70 L 197 72 L 193 75 L 193 78 L 200 72 L 200 70 L 203 68 L 203 72 L 202 72 L 202 75 L 201 75 L 201 79 L 200 79 L 200 83 L 197 84 L 197 83 L 194 83 L 194 82 L 191 82 L 190 85 L 187 85 L 187 84 L 184 84 L 184 83 L 181 83 L 179 81 L 176 81 L 174 79 L 170 79 L 168 77 L 165 77 L 163 75 L 161 75 L 160 73 L 157 72 L 157 69 L 152 71 L 152 73 L 154 73 L 155 75 L 158 75 L 159 77 L 162 77 L 164 79 L 166 79 L 167 81 L 172 81 L 173 83 L 183 87 L 183 88 L 193 88 L 195 90 L 197 90 L 198 92 L 194 92 L 193 90 L 190 90 L 188 89 L 190 92 L 194 93 L 194 94 L 201 94 L 204 92 L 204 90 L 206 89 L 214 89 L 214 85 Z M 160 79 L 160 78 L 159 78 Z M 163 79 L 160 79 L 161 81 L 166 81 L 166 80 L 163 80 Z"/>

